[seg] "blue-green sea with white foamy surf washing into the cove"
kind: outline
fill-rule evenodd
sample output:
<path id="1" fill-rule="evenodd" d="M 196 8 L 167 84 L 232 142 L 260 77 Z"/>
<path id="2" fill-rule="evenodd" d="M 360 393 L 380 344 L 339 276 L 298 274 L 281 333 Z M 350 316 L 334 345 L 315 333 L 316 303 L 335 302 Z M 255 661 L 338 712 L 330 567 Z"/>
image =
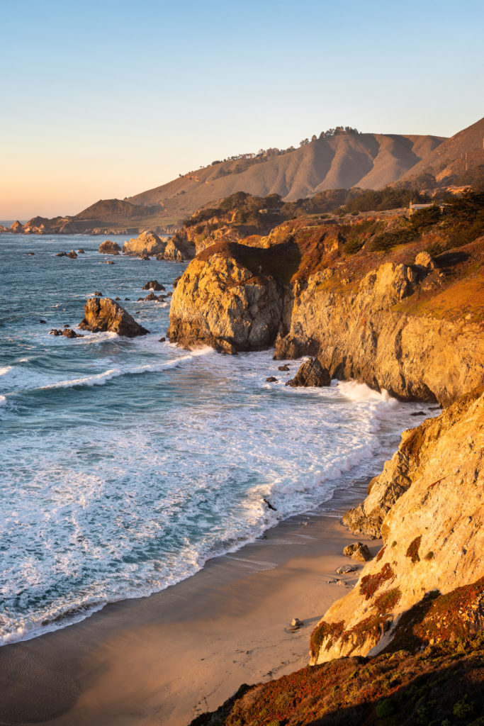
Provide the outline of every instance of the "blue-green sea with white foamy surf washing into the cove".
<path id="1" fill-rule="evenodd" d="M 148 280 L 173 290 L 186 265 L 107 265 L 100 241 L 0 235 L 0 643 L 163 590 L 282 518 L 331 509 L 418 423 L 415 404 L 358 383 L 284 386 L 299 362 L 279 372 L 270 350 L 160 342 L 169 298 L 137 298 Z M 85 253 L 56 256 L 71 248 Z M 49 335 L 76 330 L 95 292 L 149 335 Z"/>

